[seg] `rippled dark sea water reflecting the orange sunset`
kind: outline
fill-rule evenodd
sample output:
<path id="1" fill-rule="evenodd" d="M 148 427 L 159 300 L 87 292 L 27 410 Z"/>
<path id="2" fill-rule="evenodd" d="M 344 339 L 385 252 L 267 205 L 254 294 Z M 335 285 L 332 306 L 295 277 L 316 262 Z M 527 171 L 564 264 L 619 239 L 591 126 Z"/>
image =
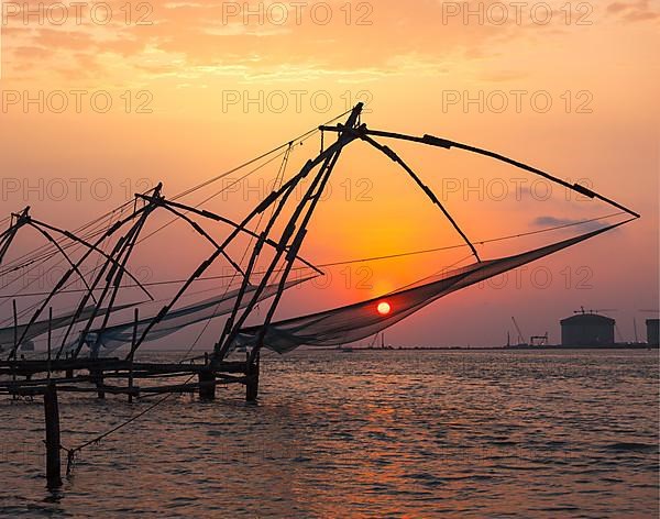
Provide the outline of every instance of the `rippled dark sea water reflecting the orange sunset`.
<path id="1" fill-rule="evenodd" d="M 0 402 L 0 516 L 658 517 L 658 353 L 300 352 L 258 406 L 173 397 L 58 495 L 43 406 Z M 145 409 L 61 395 L 65 446 Z"/>

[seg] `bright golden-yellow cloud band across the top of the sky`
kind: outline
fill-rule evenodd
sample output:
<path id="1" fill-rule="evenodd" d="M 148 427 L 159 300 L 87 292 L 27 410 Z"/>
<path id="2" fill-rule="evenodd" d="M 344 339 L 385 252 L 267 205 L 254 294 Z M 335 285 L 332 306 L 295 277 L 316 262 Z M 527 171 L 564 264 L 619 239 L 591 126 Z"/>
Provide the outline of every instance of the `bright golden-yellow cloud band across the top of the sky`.
<path id="1" fill-rule="evenodd" d="M 103 74 L 116 73 L 121 63 L 122 68 L 133 69 L 143 78 L 150 77 L 150 70 L 154 77 L 162 77 L 169 65 L 182 77 L 197 76 L 205 69 L 233 69 L 249 75 L 249 80 L 280 80 L 299 74 L 294 78 L 297 80 L 337 73 L 350 77 L 350 81 L 361 80 L 356 79 L 359 76 L 370 81 L 381 74 L 409 74 L 411 69 L 424 76 L 433 75 L 436 64 L 444 59 L 480 59 L 490 55 L 494 45 L 528 37 L 515 23 L 464 23 L 462 16 L 443 22 L 443 3 L 437 1 L 420 0 L 414 5 L 398 0 L 322 3 L 331 9 L 327 23 L 326 12 L 315 9 L 311 2 L 305 3 L 307 7 L 299 13 L 290 11 L 284 23 L 278 21 L 279 11 L 250 15 L 228 11 L 228 4 L 243 9 L 240 2 L 186 0 L 148 4 L 148 12 L 142 8 L 136 11 L 142 3 L 109 0 L 113 15 L 108 24 L 95 23 L 85 10 L 80 24 L 69 20 L 62 26 L 42 25 L 34 20 L 25 26 L 20 15 L 12 16 L 3 27 L 6 75 L 10 77 L 12 67 L 19 65 L 29 68 L 20 59 L 20 53 L 25 51 L 15 51 L 30 47 L 42 49 L 32 51 L 31 64 L 35 73 L 43 75 L 66 70 L 66 76 L 73 77 L 79 70 L 85 78 L 89 70 L 82 66 L 80 54 L 87 54 L 87 64 L 103 64 L 100 69 L 95 68 L 99 80 Z M 254 13 L 260 4 L 267 9 L 271 2 L 250 2 L 250 12 Z M 34 11 L 38 2 L 31 0 L 25 5 Z M 136 11 L 129 21 L 127 5 Z M 145 63 L 150 48 L 160 52 L 164 59 Z M 355 70 L 360 74 L 349 74 Z"/>

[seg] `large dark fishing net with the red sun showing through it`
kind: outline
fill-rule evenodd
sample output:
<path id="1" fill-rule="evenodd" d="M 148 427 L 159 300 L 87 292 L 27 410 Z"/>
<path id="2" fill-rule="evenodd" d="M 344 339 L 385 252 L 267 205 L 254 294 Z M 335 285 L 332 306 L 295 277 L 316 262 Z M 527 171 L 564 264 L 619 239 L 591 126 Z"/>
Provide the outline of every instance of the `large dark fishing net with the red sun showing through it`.
<path id="1" fill-rule="evenodd" d="M 337 346 L 374 335 L 453 291 L 553 254 L 620 225 L 617 223 L 514 256 L 482 261 L 426 278 L 399 291 L 332 310 L 270 324 L 263 345 L 277 352 Z M 431 279 L 429 281 L 429 279 Z M 254 346 L 263 325 L 241 330 L 234 346 Z"/>

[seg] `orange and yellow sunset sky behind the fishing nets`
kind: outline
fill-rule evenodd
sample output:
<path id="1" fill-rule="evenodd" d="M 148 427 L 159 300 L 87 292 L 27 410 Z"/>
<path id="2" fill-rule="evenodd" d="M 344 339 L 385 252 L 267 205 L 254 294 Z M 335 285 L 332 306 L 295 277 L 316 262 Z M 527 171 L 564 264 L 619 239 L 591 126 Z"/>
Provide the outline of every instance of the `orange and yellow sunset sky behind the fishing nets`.
<path id="1" fill-rule="evenodd" d="M 658 309 L 660 2 L 562 0 L 550 11 L 538 2 L 249 2 L 250 12 L 243 2 L 67 3 L 68 12 L 38 3 L 29 12 L 2 4 L 0 218 L 29 205 L 74 229 L 136 190 L 162 181 L 166 196 L 178 194 L 367 101 L 371 128 L 497 151 L 642 214 L 499 285 L 441 299 L 388 342 L 498 345 L 512 316 L 526 335 L 548 331 L 558 342 L 559 320 L 580 306 L 613 309 L 631 341 L 634 319 L 644 338 L 644 320 L 657 317 L 641 310 Z M 557 186 L 546 194 L 529 174 L 483 157 L 384 143 L 475 241 L 616 212 Z M 287 174 L 319 146 L 315 136 L 296 148 Z M 240 219 L 278 166 L 205 208 Z M 331 188 L 304 247 L 315 263 L 460 243 L 405 173 L 365 144 L 345 151 Z M 584 229 L 483 247 L 484 257 Z M 155 278 L 185 277 L 208 254 L 189 231 L 152 245 L 135 266 L 157 265 Z M 327 286 L 287 294 L 278 314 L 376 297 L 466 254 L 333 267 Z"/>

